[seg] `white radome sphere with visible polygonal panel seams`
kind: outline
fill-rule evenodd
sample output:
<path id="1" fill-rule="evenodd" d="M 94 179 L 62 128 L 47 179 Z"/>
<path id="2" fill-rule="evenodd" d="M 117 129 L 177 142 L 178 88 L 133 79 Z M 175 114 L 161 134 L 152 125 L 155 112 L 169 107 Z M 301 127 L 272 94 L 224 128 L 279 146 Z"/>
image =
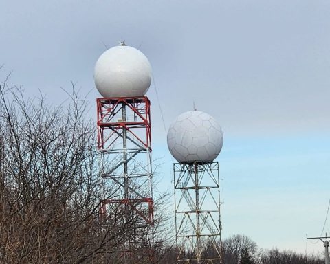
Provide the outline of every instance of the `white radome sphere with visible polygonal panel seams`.
<path id="1" fill-rule="evenodd" d="M 171 124 L 167 145 L 178 162 L 212 162 L 221 151 L 223 133 L 208 113 L 188 111 Z"/>

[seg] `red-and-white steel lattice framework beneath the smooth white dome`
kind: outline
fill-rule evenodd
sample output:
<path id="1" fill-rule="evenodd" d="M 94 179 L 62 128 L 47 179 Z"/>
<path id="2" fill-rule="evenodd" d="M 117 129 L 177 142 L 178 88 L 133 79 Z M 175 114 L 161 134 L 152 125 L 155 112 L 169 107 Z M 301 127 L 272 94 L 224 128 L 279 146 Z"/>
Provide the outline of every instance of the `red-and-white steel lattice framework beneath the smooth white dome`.
<path id="1" fill-rule="evenodd" d="M 101 175 L 116 194 L 104 197 L 100 216 L 122 208 L 123 224 L 134 214 L 135 228 L 153 225 L 150 101 L 143 96 L 96 102 Z"/>

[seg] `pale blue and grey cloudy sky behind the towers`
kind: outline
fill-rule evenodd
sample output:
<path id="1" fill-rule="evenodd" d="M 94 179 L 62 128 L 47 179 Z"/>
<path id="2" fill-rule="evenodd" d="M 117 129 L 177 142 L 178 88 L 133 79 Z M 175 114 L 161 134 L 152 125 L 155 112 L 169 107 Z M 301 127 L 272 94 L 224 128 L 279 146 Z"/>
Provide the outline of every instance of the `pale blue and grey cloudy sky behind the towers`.
<path id="1" fill-rule="evenodd" d="M 219 121 L 223 237 L 302 251 L 306 232 L 319 235 L 330 198 L 329 1 L 3 0 L 0 10 L 0 76 L 12 70 L 12 83 L 54 104 L 73 81 L 91 91 L 91 116 L 104 45 L 125 40 L 148 56 L 159 189 L 172 191 L 173 160 L 158 104 L 167 127 L 193 102 Z"/>

